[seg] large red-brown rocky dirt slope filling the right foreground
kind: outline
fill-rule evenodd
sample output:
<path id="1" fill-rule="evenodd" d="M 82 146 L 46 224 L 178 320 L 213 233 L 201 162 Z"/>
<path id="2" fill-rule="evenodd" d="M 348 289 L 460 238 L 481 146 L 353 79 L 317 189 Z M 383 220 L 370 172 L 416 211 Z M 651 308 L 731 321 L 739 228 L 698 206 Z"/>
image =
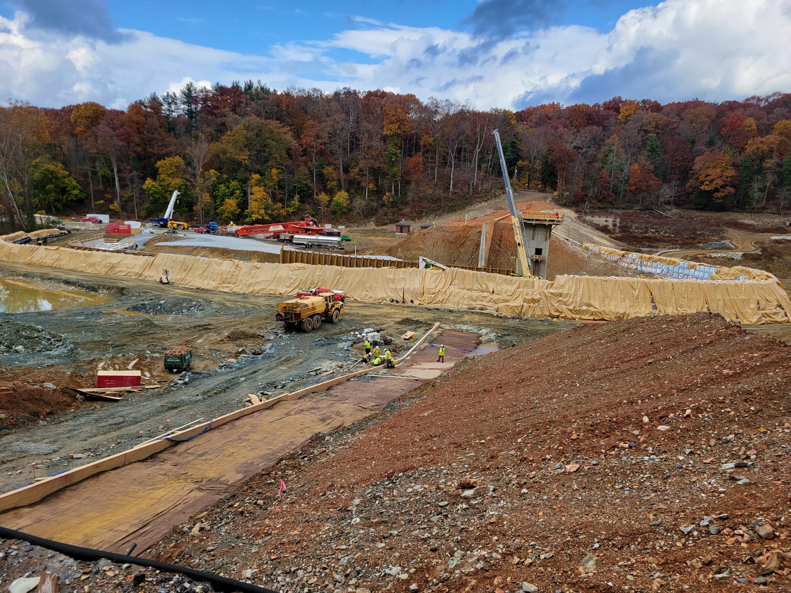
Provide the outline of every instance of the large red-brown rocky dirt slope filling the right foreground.
<path id="1" fill-rule="evenodd" d="M 552 334 L 314 440 L 151 554 L 283 591 L 788 591 L 789 365 L 713 315 Z"/>

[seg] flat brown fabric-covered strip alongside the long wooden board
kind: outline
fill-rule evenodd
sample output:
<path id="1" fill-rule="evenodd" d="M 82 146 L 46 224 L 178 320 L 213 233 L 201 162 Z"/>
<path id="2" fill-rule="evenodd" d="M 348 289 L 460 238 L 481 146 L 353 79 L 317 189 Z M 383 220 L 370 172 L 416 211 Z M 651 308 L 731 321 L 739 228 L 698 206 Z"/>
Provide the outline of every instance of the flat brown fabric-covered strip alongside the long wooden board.
<path id="1" fill-rule="evenodd" d="M 350 380 L 326 394 L 280 402 L 218 429 L 176 444 L 148 459 L 86 478 L 27 507 L 0 514 L 0 524 L 75 546 L 123 553 L 136 542 L 146 550 L 179 525 L 257 472 L 294 451 L 316 433 L 368 417 L 394 398 L 440 376 L 478 346 L 479 334 L 445 330 L 434 346 L 395 369 L 421 380 Z M 437 345 L 445 344 L 445 362 Z M 274 503 L 277 489 L 262 494 Z M 214 526 L 210 526 L 214 527 Z"/>

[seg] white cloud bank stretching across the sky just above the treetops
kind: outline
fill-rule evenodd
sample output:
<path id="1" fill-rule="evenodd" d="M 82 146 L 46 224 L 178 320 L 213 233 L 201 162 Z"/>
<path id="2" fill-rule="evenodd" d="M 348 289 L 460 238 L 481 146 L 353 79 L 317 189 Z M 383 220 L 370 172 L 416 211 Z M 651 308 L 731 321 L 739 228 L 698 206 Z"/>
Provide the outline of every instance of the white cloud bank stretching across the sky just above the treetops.
<path id="1" fill-rule="evenodd" d="M 0 97 L 123 107 L 187 81 L 252 78 L 278 89 L 398 89 L 479 108 L 613 95 L 738 99 L 791 91 L 789 15 L 791 0 L 667 0 L 631 10 L 608 33 L 562 26 L 496 43 L 356 17 L 330 39 L 244 55 L 140 31 L 123 30 L 114 44 L 32 34 L 17 13 L 0 17 Z"/>

